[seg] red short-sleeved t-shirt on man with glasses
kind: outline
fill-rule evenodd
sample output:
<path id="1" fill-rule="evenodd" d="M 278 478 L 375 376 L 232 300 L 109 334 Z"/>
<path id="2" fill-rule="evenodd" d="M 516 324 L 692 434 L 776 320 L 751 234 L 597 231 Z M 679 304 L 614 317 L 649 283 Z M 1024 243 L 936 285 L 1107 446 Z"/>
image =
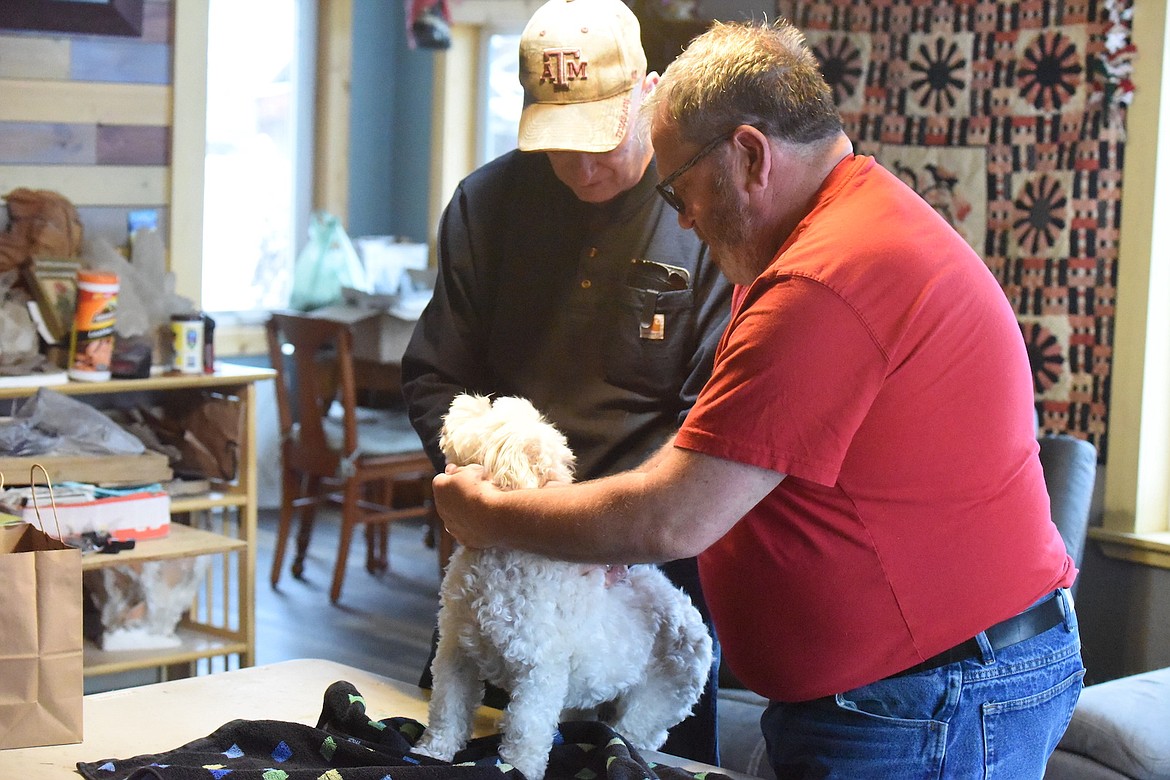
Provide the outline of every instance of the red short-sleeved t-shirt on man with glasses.
<path id="1" fill-rule="evenodd" d="M 1003 290 L 872 158 L 736 290 L 680 447 L 787 477 L 700 558 L 724 658 L 799 702 L 970 639 L 1075 575 Z"/>

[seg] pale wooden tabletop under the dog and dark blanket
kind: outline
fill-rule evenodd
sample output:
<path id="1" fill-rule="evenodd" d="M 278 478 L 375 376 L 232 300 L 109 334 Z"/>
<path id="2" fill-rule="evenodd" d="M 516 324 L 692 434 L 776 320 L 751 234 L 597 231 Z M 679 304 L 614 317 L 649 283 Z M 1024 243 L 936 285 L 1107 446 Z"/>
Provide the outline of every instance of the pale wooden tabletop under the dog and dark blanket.
<path id="1" fill-rule="evenodd" d="M 330 683 L 349 681 L 362 692 L 372 718 L 407 717 L 426 723 L 427 695 L 417 685 L 316 658 L 283 661 L 216 675 L 91 693 L 84 699 L 84 741 L 0 751 L 0 778 L 76 778 L 78 761 L 128 758 L 168 751 L 236 718 L 278 719 L 315 725 Z M 481 706 L 475 736 L 498 729 L 498 710 Z M 693 772 L 716 771 L 662 753 L 648 760 Z M 756 779 L 758 780 L 758 779 Z"/>

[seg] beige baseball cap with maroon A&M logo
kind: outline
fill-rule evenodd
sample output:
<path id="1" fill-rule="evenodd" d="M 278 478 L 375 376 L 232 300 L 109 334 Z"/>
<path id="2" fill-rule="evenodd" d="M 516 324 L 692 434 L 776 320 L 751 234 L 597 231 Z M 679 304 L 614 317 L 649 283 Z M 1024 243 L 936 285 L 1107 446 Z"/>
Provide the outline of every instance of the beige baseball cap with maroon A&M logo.
<path id="1" fill-rule="evenodd" d="M 638 18 L 621 0 L 549 0 L 519 40 L 525 152 L 608 152 L 646 73 Z"/>

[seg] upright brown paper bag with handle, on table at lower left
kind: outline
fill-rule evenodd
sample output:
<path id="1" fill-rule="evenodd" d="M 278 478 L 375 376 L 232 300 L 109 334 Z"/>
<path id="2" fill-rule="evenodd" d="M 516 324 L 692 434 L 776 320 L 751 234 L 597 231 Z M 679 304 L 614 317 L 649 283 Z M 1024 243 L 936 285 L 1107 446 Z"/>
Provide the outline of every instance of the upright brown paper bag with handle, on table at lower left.
<path id="1" fill-rule="evenodd" d="M 81 551 L 0 527 L 0 748 L 82 739 Z"/>

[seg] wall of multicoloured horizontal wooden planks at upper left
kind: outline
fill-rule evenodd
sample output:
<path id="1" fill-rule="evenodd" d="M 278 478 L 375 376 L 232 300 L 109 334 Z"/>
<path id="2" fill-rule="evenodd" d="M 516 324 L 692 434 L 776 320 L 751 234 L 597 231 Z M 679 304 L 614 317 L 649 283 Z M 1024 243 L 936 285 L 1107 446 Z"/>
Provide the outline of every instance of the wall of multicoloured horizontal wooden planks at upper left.
<path id="1" fill-rule="evenodd" d="M 173 16 L 145 0 L 140 37 L 0 29 L 0 198 L 58 192 L 115 247 L 130 210 L 154 209 L 166 241 Z"/>

